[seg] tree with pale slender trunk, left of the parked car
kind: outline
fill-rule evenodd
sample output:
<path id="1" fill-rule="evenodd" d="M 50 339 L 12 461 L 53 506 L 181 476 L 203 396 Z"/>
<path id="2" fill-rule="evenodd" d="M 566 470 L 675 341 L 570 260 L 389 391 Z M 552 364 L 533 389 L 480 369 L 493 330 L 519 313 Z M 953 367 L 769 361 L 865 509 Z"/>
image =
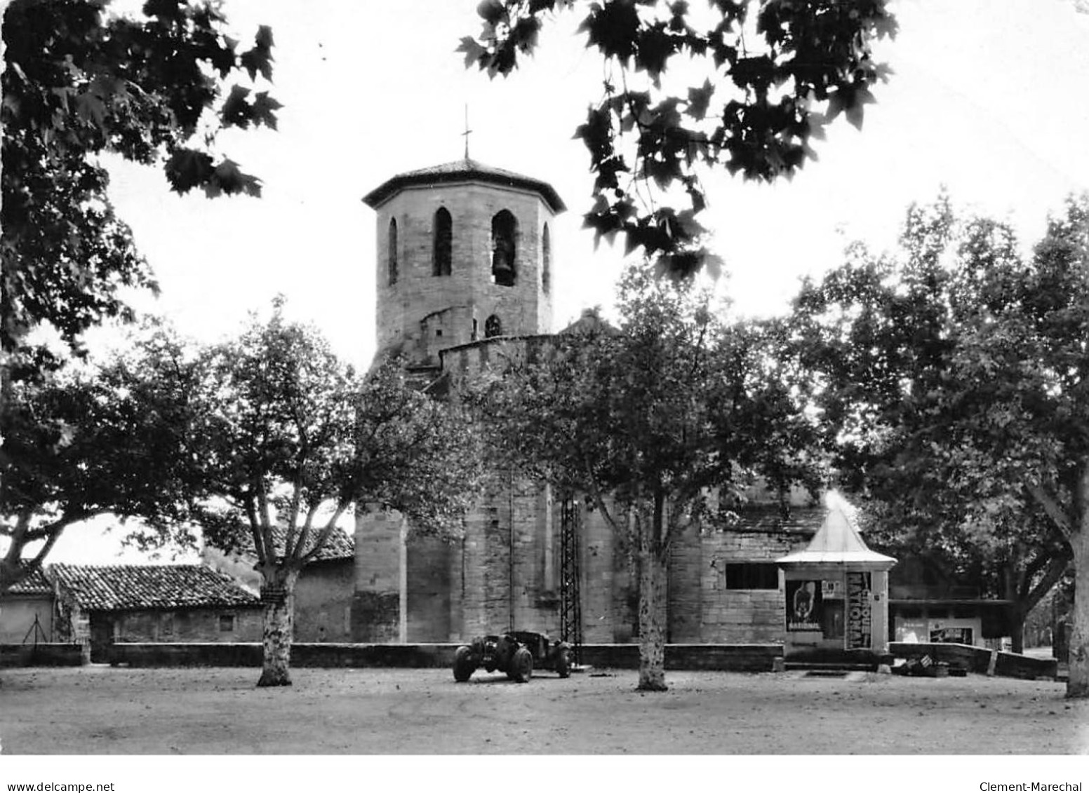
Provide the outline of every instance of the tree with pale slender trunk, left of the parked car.
<path id="1" fill-rule="evenodd" d="M 192 518 L 213 546 L 256 554 L 266 604 L 258 685 L 290 685 L 299 572 L 353 505 L 399 510 L 420 532 L 456 532 L 475 494 L 475 436 L 395 361 L 359 377 L 314 330 L 286 322 L 280 301 L 201 365 Z"/>

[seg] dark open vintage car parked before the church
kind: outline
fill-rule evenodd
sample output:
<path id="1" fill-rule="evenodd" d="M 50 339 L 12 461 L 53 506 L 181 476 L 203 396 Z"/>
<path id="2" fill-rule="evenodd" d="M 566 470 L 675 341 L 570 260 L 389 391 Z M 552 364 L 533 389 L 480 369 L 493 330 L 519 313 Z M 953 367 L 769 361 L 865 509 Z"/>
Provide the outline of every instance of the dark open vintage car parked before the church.
<path id="1" fill-rule="evenodd" d="M 502 635 L 477 636 L 454 653 L 454 680 L 464 683 L 480 667 L 501 671 L 511 680 L 527 683 L 534 667 L 550 669 L 561 678 L 571 674 L 574 655 L 566 642 L 551 642 L 534 631 L 511 631 Z"/>

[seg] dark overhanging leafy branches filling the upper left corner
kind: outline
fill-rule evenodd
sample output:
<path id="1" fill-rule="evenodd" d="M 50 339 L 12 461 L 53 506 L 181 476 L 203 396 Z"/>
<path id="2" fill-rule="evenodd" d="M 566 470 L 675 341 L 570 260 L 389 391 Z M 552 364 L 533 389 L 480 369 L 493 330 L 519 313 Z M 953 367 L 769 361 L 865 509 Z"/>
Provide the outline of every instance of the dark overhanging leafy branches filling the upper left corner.
<path id="1" fill-rule="evenodd" d="M 279 102 L 237 82 L 272 76 L 272 33 L 238 52 L 211 2 L 148 0 L 143 18 L 109 0 L 14 0 L 3 15 L 3 237 L 0 346 L 40 323 L 77 347 L 111 317 L 122 287 L 156 288 L 107 195 L 103 152 L 162 163 L 171 187 L 260 194 L 260 181 L 210 153 L 230 126 L 276 127 Z"/>

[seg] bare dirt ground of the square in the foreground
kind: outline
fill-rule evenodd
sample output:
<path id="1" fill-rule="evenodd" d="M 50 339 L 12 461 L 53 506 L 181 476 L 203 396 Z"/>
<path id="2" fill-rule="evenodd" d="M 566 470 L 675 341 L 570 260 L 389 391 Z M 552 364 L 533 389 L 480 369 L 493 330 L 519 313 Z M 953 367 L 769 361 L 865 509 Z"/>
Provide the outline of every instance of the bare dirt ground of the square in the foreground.
<path id="1" fill-rule="evenodd" d="M 0 671 L 8 754 L 1082 754 L 1089 702 L 982 676 L 541 673 L 519 685 L 444 669 Z"/>

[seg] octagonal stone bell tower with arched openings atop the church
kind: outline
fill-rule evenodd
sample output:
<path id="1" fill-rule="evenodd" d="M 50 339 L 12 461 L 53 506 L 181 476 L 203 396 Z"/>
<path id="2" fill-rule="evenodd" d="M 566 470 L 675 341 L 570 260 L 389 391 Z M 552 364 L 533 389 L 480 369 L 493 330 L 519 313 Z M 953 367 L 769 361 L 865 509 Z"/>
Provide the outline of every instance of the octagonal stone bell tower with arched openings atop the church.
<path id="1" fill-rule="evenodd" d="M 552 331 L 552 224 L 566 208 L 529 176 L 465 158 L 364 197 L 377 223 L 378 351 L 439 350 Z"/>

